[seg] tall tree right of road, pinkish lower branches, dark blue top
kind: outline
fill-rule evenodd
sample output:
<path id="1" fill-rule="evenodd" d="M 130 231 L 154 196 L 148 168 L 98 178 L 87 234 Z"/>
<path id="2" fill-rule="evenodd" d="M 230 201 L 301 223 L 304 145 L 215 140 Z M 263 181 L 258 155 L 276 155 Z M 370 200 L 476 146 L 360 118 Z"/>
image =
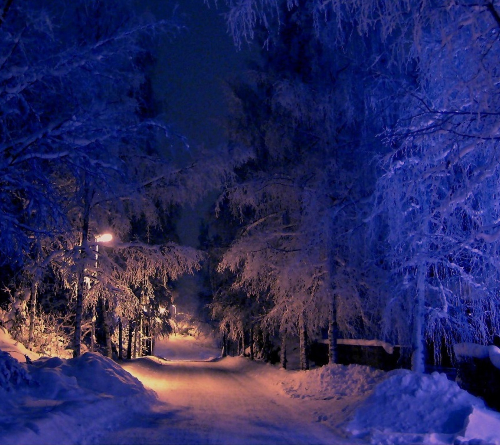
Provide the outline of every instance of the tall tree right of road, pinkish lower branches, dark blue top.
<path id="1" fill-rule="evenodd" d="M 262 51 L 261 66 L 229 94 L 229 138 L 252 147 L 255 158 L 220 201 L 242 229 L 219 270 L 231 270 L 233 288 L 260 302 L 263 330 L 301 338 L 306 367 L 307 330 L 317 332 L 329 321 L 333 348 L 337 321 L 344 335 L 355 335 L 360 324 L 354 319 L 363 318 L 354 276 L 364 266 L 344 243 L 362 227 L 366 205 L 353 194 L 362 169 L 346 170 L 361 148 L 352 109 L 362 105 L 337 105 L 345 90 L 332 86 L 331 76 L 340 63 L 328 63 L 331 54 L 315 38 L 312 20 L 306 24 L 310 11 L 282 14 L 286 20 Z M 336 304 L 337 294 L 349 303 Z"/>

